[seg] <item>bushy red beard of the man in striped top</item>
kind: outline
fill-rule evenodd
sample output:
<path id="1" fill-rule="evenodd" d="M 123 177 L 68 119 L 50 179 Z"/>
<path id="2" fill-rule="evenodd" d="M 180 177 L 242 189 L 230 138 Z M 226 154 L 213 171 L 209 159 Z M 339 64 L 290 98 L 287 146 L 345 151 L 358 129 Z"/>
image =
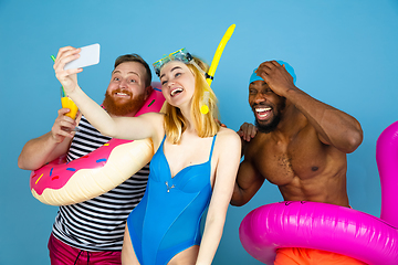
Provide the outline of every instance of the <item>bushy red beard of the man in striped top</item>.
<path id="1" fill-rule="evenodd" d="M 113 94 L 122 92 L 122 89 L 116 89 Z M 144 97 L 145 95 L 137 95 L 132 97 L 132 93 L 127 91 L 123 91 L 123 93 L 127 94 L 130 99 L 128 102 L 119 102 L 115 100 L 113 96 L 109 95 L 108 92 L 105 93 L 105 99 L 103 102 L 104 108 L 111 114 L 115 116 L 127 116 L 127 115 L 135 115 L 144 105 Z"/>

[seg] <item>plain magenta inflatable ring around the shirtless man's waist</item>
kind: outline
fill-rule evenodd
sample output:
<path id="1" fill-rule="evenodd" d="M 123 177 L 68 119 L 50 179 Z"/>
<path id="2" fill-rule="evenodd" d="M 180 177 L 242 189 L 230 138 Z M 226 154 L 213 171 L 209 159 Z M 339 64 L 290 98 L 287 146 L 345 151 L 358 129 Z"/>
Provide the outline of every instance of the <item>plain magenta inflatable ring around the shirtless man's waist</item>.
<path id="1" fill-rule="evenodd" d="M 380 219 L 318 202 L 279 202 L 251 211 L 239 235 L 244 250 L 273 264 L 276 248 L 305 247 L 339 253 L 367 264 L 398 264 L 398 121 L 377 140 L 381 181 Z"/>

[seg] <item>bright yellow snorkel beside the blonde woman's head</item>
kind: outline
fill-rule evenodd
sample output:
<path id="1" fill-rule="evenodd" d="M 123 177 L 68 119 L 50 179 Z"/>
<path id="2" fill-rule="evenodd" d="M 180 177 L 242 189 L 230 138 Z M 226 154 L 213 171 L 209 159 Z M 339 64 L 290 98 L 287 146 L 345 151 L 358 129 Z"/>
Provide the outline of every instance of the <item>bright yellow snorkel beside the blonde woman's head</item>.
<path id="1" fill-rule="evenodd" d="M 214 56 L 213 56 L 213 60 L 211 61 L 211 65 L 210 65 L 210 68 L 209 68 L 209 72 L 207 74 L 207 83 L 209 84 L 209 86 L 211 86 L 211 82 L 214 77 L 214 73 L 216 73 L 216 70 L 217 70 L 217 66 L 220 62 L 220 59 L 221 59 L 221 55 L 222 55 L 222 52 L 227 45 L 227 42 L 229 41 L 229 39 L 231 38 L 233 31 L 234 31 L 234 28 L 235 28 L 235 24 L 231 24 L 228 30 L 226 31 L 224 35 L 222 36 L 217 50 L 216 50 L 216 53 L 214 53 Z M 209 102 L 209 92 L 205 92 L 205 95 L 203 95 L 203 98 L 202 98 L 202 105 L 200 106 L 200 113 L 201 114 L 207 114 L 209 112 L 209 106 L 208 106 L 208 102 Z"/>

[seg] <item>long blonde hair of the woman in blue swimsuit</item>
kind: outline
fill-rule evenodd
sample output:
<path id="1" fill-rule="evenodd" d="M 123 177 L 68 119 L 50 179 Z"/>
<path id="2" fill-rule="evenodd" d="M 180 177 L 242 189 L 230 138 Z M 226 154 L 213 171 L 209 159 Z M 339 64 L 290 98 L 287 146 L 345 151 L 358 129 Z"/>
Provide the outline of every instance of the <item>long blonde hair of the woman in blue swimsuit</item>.
<path id="1" fill-rule="evenodd" d="M 202 71 L 208 71 L 208 65 L 206 63 L 195 56 L 193 60 L 202 68 Z M 216 119 L 219 118 L 216 94 L 208 85 L 203 74 L 200 73 L 196 66 L 192 64 L 187 64 L 187 66 L 195 76 L 195 93 L 192 96 L 192 105 L 190 110 L 195 129 L 197 130 L 198 136 L 201 138 L 212 137 L 220 130 L 220 125 L 216 121 Z M 201 114 L 200 106 L 205 92 L 209 92 L 209 102 L 207 103 L 209 112 L 207 114 Z M 187 120 L 184 117 L 181 110 L 166 103 L 166 137 L 170 139 L 174 145 L 176 145 L 180 141 L 181 135 L 186 129 Z"/>

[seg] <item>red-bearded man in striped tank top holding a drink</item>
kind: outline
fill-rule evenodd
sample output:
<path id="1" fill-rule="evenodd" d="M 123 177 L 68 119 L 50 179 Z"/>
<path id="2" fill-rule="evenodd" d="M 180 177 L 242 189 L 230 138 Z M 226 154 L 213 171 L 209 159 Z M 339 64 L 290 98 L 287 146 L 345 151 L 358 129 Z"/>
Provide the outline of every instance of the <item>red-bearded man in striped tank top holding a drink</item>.
<path id="1" fill-rule="evenodd" d="M 61 47 L 59 55 L 73 50 Z M 150 68 L 139 55 L 117 57 L 103 107 L 112 116 L 134 116 L 153 89 L 150 82 Z M 111 139 L 84 116 L 65 116 L 69 112 L 61 108 L 51 131 L 25 144 L 18 159 L 21 169 L 35 170 L 62 155 L 71 161 Z M 105 194 L 60 206 L 48 245 L 51 264 L 122 264 L 125 222 L 145 193 L 148 174 L 147 165 Z"/>

